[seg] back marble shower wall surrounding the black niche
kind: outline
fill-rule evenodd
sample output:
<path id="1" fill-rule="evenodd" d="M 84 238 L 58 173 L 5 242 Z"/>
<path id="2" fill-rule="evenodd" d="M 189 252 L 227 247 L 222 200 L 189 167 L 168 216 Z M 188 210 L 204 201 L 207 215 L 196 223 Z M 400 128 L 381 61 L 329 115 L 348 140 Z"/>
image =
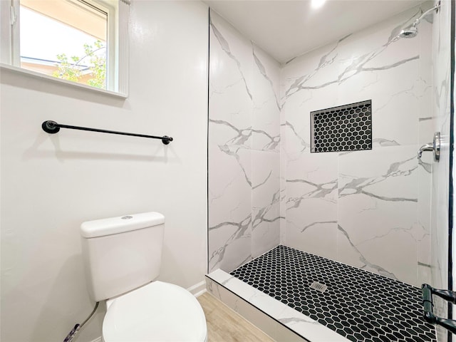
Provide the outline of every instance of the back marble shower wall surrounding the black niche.
<path id="1" fill-rule="evenodd" d="M 432 24 L 425 3 L 282 66 L 281 242 L 408 284 L 430 279 Z M 372 100 L 373 149 L 310 152 L 310 112 Z"/>

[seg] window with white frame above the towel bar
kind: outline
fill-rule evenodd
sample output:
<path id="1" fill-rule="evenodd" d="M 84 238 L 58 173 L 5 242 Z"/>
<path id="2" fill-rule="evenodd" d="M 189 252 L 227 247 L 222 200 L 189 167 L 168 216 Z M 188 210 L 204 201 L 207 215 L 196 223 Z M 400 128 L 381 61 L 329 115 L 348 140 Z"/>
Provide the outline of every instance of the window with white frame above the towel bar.
<path id="1" fill-rule="evenodd" d="M 126 1 L 1 1 L 1 62 L 126 95 Z"/>

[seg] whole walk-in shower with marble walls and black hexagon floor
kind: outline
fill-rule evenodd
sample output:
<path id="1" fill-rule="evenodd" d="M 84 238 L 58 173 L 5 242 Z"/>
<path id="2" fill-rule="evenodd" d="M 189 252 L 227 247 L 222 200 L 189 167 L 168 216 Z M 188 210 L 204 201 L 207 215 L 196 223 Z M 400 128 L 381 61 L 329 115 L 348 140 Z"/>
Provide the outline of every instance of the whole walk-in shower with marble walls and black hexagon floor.
<path id="1" fill-rule="evenodd" d="M 450 1 L 281 64 L 210 17 L 209 291 L 276 341 L 445 341 Z"/>

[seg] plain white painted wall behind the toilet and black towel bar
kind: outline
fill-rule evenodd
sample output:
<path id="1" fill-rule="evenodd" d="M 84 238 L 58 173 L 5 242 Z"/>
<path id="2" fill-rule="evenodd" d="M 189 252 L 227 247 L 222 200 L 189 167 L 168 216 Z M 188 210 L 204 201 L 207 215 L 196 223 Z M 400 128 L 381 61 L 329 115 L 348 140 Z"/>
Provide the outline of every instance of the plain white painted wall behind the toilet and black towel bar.
<path id="1" fill-rule="evenodd" d="M 165 214 L 160 279 L 207 270 L 207 6 L 133 1 L 130 97 L 1 71 L 1 341 L 62 341 L 90 313 L 81 222 Z M 61 130 L 44 120 L 159 140 Z M 103 310 L 101 310 L 103 311 Z M 100 336 L 98 315 L 77 341 Z"/>

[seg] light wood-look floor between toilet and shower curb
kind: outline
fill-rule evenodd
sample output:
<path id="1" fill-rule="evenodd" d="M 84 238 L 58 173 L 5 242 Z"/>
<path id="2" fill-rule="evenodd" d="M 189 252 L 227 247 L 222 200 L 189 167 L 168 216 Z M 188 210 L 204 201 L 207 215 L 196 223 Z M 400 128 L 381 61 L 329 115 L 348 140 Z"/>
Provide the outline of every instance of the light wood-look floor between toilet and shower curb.
<path id="1" fill-rule="evenodd" d="M 211 294 L 206 292 L 197 299 L 206 315 L 208 342 L 274 342 Z"/>

